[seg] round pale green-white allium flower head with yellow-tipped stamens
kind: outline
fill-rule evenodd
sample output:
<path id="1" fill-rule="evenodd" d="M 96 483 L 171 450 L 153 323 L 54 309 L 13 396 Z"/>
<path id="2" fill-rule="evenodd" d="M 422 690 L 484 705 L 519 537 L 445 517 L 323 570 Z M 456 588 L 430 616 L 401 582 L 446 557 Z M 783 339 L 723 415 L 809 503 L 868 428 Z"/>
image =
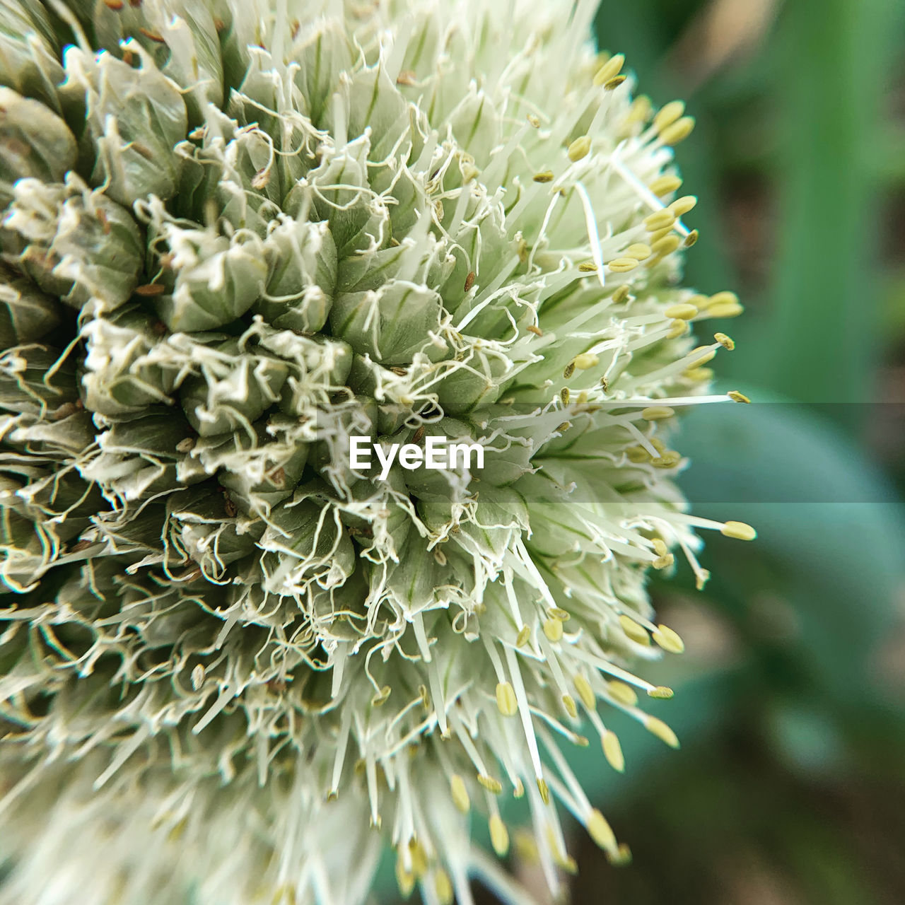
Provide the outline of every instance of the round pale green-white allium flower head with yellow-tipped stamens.
<path id="1" fill-rule="evenodd" d="M 626 860 L 560 746 L 677 744 L 647 570 L 753 531 L 672 483 L 741 308 L 594 13 L 6 0 L 0 901 L 355 905 L 391 845 L 467 903 L 513 794 L 552 889 L 564 811 Z"/>

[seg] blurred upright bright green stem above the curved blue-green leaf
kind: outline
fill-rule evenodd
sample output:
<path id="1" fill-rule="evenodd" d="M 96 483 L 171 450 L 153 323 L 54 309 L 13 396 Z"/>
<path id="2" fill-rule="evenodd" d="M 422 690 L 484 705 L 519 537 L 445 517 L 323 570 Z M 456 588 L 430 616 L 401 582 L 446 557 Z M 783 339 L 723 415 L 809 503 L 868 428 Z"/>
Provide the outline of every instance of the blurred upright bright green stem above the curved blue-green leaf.
<path id="1" fill-rule="evenodd" d="M 780 31 L 780 240 L 773 310 L 751 379 L 805 402 L 872 398 L 881 337 L 871 166 L 896 14 L 891 0 L 792 0 Z M 768 356 L 768 357 L 767 357 Z M 862 409 L 834 410 L 858 433 Z"/>

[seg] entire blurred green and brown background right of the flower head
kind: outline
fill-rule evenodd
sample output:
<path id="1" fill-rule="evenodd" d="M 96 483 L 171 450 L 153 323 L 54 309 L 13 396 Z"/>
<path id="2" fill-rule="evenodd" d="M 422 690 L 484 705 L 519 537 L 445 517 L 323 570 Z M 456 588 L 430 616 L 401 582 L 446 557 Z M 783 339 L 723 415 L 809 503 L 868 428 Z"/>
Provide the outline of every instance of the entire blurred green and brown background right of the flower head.
<path id="1" fill-rule="evenodd" d="M 657 668 L 675 699 L 651 702 L 681 751 L 626 725 L 624 776 L 573 757 L 633 865 L 576 831 L 571 900 L 900 905 L 905 4 L 604 0 L 597 30 L 697 118 L 686 281 L 746 304 L 716 368 L 754 404 L 702 406 L 676 446 L 693 508 L 759 538 L 709 533 L 703 592 L 681 570 L 653 585 L 687 645 Z"/>

